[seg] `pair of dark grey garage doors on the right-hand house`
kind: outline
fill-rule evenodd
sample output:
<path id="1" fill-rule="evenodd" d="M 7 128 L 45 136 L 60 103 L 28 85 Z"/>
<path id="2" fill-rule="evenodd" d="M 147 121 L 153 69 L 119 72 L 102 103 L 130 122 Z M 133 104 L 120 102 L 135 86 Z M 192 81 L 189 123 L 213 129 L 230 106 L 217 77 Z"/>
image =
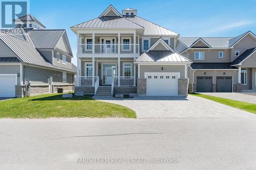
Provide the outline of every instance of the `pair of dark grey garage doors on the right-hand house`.
<path id="1" fill-rule="evenodd" d="M 197 92 L 212 92 L 212 76 L 197 77 Z M 232 77 L 217 76 L 216 92 L 232 92 Z"/>

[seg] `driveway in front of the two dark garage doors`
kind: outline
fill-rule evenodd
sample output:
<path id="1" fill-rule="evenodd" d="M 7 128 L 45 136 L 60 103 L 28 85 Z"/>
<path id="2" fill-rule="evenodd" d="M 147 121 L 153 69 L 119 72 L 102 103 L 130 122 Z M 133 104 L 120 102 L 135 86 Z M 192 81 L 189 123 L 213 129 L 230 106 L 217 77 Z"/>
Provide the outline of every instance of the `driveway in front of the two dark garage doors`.
<path id="1" fill-rule="evenodd" d="M 256 104 L 256 93 L 201 93 L 219 98 Z"/>

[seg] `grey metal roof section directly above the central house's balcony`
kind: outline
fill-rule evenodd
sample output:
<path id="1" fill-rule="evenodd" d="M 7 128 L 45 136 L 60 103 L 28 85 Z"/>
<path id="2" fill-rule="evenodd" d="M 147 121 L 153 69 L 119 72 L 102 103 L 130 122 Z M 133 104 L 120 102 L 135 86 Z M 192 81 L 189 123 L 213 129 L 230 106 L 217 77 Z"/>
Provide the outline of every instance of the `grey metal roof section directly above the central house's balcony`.
<path id="1" fill-rule="evenodd" d="M 103 16 L 80 23 L 71 28 L 118 28 L 118 29 L 143 29 L 137 23 L 120 16 Z"/>

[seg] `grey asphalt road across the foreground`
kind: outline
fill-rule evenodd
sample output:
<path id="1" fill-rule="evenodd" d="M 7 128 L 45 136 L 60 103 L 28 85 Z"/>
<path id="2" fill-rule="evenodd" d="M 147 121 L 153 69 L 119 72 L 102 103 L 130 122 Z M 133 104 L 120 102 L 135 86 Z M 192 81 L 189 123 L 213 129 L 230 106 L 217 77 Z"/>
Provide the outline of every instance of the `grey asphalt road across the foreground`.
<path id="1" fill-rule="evenodd" d="M 255 118 L 0 119 L 0 169 L 255 168 Z"/>

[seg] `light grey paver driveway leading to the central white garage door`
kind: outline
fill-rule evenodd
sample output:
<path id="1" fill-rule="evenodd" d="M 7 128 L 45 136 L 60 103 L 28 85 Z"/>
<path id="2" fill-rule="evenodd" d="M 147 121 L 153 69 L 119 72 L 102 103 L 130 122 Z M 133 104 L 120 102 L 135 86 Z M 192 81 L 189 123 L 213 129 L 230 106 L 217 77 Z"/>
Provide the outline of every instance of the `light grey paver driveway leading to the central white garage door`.
<path id="1" fill-rule="evenodd" d="M 256 115 L 197 96 L 143 97 L 115 99 L 95 96 L 94 99 L 133 109 L 137 118 L 256 118 Z"/>

